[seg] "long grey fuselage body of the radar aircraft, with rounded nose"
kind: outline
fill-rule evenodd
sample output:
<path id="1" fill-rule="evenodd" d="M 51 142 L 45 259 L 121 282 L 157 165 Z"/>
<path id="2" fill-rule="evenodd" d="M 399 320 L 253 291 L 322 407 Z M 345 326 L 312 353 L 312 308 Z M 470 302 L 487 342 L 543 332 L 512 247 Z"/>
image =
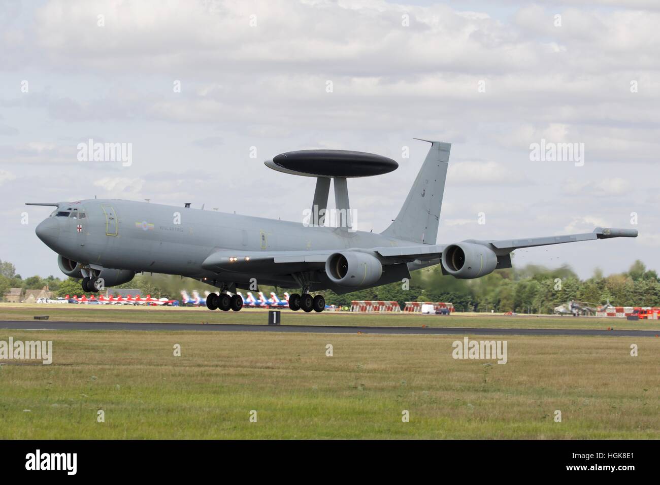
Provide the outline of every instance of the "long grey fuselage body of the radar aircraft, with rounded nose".
<path id="1" fill-rule="evenodd" d="M 70 214 L 58 216 L 58 212 Z M 218 249 L 234 249 L 240 255 L 241 251 L 342 250 L 411 244 L 346 228 L 306 226 L 302 222 L 119 199 L 88 199 L 61 205 L 40 223 L 36 232 L 53 251 L 79 263 L 226 282 L 258 278 L 260 283 L 282 286 L 296 285 L 288 275 L 218 275 L 204 269 L 202 263 Z M 434 263 L 411 263 L 409 268 L 430 264 Z"/>

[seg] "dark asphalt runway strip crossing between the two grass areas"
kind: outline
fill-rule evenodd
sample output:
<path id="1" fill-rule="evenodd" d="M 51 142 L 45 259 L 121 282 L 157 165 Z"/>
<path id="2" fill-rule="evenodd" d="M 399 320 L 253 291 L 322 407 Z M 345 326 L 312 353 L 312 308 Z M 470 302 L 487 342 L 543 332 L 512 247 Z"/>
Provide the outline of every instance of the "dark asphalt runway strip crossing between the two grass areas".
<path id="1" fill-rule="evenodd" d="M 203 332 L 363 333 L 372 335 L 545 335 L 600 337 L 656 337 L 660 330 L 500 329 L 482 327 L 353 327 L 343 325 L 227 325 L 218 323 L 127 323 L 84 321 L 0 321 L 0 329 L 119 330 Z"/>

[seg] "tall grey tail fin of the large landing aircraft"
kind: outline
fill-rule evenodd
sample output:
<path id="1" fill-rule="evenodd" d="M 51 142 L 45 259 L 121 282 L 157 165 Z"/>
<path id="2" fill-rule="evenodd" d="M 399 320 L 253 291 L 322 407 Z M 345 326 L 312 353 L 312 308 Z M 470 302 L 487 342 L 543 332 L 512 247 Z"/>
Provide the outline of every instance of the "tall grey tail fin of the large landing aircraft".
<path id="1" fill-rule="evenodd" d="M 399 215 L 381 234 L 407 241 L 435 244 L 451 143 L 423 141 L 430 142 L 431 149 Z"/>

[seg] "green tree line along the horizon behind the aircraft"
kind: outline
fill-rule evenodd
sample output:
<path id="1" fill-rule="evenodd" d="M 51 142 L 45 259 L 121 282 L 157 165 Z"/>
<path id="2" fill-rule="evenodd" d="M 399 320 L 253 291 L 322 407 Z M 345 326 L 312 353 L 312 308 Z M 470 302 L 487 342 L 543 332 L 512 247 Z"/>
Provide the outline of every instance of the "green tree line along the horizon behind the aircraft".
<path id="1" fill-rule="evenodd" d="M 54 296 L 73 296 L 82 293 L 80 280 L 63 277 L 30 276 L 16 274 L 15 266 L 0 261 L 0 295 L 9 288 L 38 290 L 48 286 Z M 180 298 L 181 290 L 213 292 L 213 286 L 170 275 L 136 275 L 117 288 L 135 288 L 145 296 L 154 298 Z M 259 286 L 267 298 L 270 292 L 282 298 L 282 288 Z M 288 290 L 292 293 L 293 290 Z M 110 290 L 112 294 L 112 289 Z M 451 302 L 457 311 L 515 311 L 517 313 L 552 313 L 554 307 L 569 301 L 586 302 L 597 306 L 610 302 L 614 306 L 659 306 L 660 280 L 657 272 L 648 270 L 642 261 L 635 261 L 624 273 L 604 276 L 597 269 L 585 280 L 564 265 L 548 269 L 537 265 L 502 269 L 475 280 L 457 280 L 442 275 L 439 265 L 414 271 L 410 280 L 386 284 L 339 295 L 330 290 L 319 292 L 327 304 L 350 306 L 352 300 L 395 301 L 403 307 L 405 302 Z"/>

